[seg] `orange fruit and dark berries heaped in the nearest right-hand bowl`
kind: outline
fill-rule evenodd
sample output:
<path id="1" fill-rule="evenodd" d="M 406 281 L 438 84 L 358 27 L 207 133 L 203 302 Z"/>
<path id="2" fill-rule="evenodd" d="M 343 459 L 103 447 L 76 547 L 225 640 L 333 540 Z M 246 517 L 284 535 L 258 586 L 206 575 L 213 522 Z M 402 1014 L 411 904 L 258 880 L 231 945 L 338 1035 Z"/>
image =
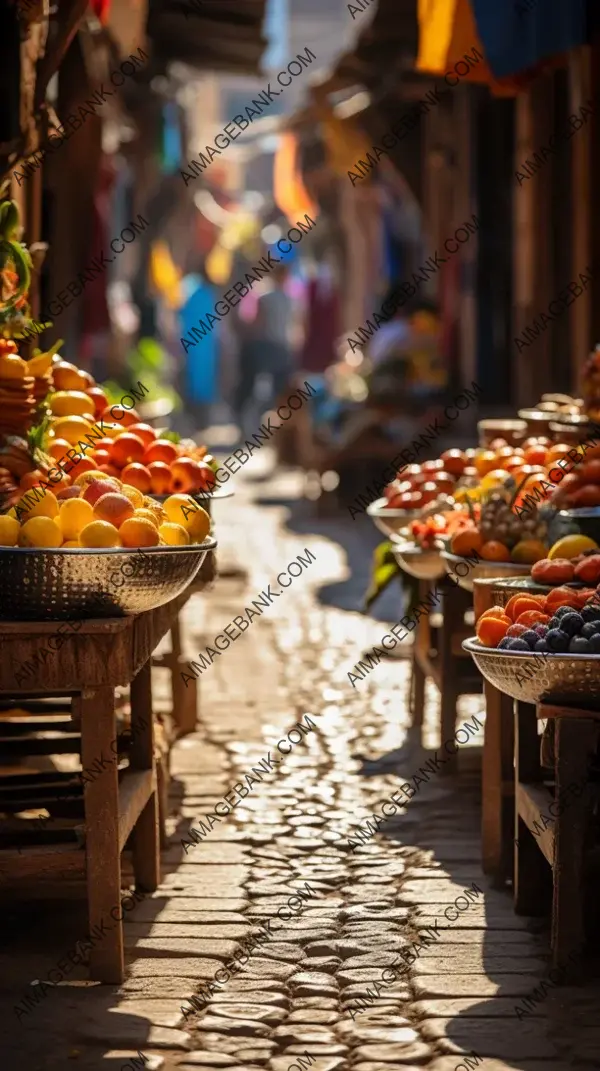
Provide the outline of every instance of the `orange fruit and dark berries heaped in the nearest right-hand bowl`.
<path id="1" fill-rule="evenodd" d="M 599 654 L 600 590 L 513 595 L 506 606 L 481 615 L 476 634 L 483 647 L 520 654 Z"/>

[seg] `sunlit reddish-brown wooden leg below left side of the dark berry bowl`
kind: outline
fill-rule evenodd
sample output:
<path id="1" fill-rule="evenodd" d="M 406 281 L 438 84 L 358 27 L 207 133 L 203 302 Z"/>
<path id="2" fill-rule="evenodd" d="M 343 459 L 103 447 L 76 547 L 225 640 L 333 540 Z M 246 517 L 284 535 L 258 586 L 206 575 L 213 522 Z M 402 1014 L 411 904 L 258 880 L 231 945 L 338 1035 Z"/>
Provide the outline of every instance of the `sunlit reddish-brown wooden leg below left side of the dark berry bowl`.
<path id="1" fill-rule="evenodd" d="M 512 876 L 513 798 L 507 795 L 512 784 L 513 720 L 512 700 L 484 682 L 485 729 L 481 761 L 481 848 L 483 873 L 490 874 L 496 888 Z"/>

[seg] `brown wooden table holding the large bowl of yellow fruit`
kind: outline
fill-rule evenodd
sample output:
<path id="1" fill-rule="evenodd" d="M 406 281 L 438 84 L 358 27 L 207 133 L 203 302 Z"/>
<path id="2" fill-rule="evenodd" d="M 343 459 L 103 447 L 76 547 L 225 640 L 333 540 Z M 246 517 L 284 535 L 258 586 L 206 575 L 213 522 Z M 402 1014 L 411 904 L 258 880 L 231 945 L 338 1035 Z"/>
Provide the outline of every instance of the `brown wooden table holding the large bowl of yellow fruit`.
<path id="1" fill-rule="evenodd" d="M 132 847 L 136 888 L 153 891 L 160 880 L 159 794 L 154 760 L 151 695 L 152 651 L 171 628 L 189 598 L 184 591 L 158 609 L 135 617 L 89 620 L 64 643 L 36 684 L 20 684 L 18 667 L 56 635 L 58 622 L 0 624 L 0 698 L 71 697 L 72 719 L 80 733 L 81 766 L 106 765 L 84 789 L 85 844 L 44 844 L 0 850 L 0 886 L 40 880 L 87 881 L 90 931 L 104 920 L 108 933 L 90 953 L 91 976 L 103 982 L 124 978 L 122 923 L 112 909 L 121 902 L 121 853 Z M 130 768 L 119 773 L 111 742 L 116 739 L 115 689 L 131 685 Z M 81 935 L 84 936 L 84 935 Z"/>

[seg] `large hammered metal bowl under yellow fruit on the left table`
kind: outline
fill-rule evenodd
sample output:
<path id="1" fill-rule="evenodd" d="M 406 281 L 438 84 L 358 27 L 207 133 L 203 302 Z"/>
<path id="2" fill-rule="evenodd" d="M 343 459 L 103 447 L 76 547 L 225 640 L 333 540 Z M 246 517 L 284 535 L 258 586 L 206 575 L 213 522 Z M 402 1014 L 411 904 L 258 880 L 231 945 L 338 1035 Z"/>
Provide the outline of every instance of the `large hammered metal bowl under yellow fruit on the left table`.
<path id="1" fill-rule="evenodd" d="M 139 550 L 0 547 L 0 620 L 80 620 L 155 609 L 188 587 L 215 547 L 213 539 Z"/>

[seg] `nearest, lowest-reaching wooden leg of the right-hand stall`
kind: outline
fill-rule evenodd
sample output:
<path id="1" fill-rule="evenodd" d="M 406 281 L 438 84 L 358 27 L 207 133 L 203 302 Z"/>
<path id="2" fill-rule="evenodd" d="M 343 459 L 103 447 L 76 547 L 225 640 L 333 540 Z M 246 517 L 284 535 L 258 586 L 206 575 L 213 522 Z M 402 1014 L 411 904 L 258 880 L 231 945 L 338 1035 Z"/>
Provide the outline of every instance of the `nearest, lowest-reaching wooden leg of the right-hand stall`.
<path id="1" fill-rule="evenodd" d="M 557 718 L 555 731 L 555 793 L 558 806 L 554 840 L 554 897 L 552 954 L 565 967 L 568 981 L 581 978 L 581 961 L 569 955 L 583 950 L 585 933 L 585 853 L 588 847 L 589 761 L 596 749 L 598 724 L 589 718 Z M 579 795 L 575 789 L 579 789 Z"/>

